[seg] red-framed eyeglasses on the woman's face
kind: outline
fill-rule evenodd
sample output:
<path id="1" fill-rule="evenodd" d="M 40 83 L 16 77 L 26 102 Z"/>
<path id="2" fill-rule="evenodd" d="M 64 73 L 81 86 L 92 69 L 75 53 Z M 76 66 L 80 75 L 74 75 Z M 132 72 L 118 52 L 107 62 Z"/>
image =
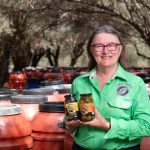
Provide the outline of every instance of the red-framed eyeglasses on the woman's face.
<path id="1" fill-rule="evenodd" d="M 91 45 L 91 48 L 94 48 L 94 50 L 96 52 L 103 52 L 105 47 L 107 47 L 107 49 L 110 51 L 110 52 L 115 52 L 117 50 L 117 46 L 119 45 L 122 45 L 120 43 L 108 43 L 106 45 L 104 44 L 93 44 Z"/>

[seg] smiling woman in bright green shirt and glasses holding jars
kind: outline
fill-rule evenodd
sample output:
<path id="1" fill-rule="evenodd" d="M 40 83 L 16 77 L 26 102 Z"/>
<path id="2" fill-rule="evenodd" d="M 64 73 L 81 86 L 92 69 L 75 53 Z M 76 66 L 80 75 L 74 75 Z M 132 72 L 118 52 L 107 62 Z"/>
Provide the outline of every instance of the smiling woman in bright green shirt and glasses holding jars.
<path id="1" fill-rule="evenodd" d="M 66 121 L 74 130 L 73 150 L 139 150 L 150 135 L 150 101 L 143 80 L 123 69 L 119 33 L 104 25 L 88 43 L 90 71 L 73 81 L 72 93 L 92 93 L 95 119 Z"/>

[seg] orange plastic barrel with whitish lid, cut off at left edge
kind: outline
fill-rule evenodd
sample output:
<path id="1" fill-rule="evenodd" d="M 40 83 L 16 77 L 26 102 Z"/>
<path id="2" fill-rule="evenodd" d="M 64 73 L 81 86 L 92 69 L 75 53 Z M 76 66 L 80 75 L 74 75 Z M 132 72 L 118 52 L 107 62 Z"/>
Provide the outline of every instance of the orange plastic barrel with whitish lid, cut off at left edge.
<path id="1" fill-rule="evenodd" d="M 0 150 L 28 150 L 32 148 L 30 123 L 15 104 L 0 104 Z"/>

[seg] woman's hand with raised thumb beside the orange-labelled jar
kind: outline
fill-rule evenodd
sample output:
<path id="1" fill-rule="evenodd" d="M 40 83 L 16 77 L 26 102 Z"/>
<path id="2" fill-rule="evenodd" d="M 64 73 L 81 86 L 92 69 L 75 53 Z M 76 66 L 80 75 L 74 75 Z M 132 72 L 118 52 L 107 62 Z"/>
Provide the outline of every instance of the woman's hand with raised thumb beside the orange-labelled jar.
<path id="1" fill-rule="evenodd" d="M 81 122 L 80 126 L 88 125 L 91 127 L 100 128 L 102 130 L 108 131 L 110 129 L 110 123 L 101 116 L 101 114 L 98 112 L 96 108 L 94 112 L 95 112 L 95 119 L 88 122 Z"/>

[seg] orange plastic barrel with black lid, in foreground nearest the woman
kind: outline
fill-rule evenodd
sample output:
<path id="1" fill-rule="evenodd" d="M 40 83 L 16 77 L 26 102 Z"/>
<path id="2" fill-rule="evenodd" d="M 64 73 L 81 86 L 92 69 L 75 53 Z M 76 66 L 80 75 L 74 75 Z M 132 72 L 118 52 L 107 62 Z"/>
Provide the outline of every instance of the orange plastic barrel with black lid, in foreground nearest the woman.
<path id="1" fill-rule="evenodd" d="M 65 131 L 63 102 L 45 102 L 32 120 L 33 150 L 63 150 Z"/>

